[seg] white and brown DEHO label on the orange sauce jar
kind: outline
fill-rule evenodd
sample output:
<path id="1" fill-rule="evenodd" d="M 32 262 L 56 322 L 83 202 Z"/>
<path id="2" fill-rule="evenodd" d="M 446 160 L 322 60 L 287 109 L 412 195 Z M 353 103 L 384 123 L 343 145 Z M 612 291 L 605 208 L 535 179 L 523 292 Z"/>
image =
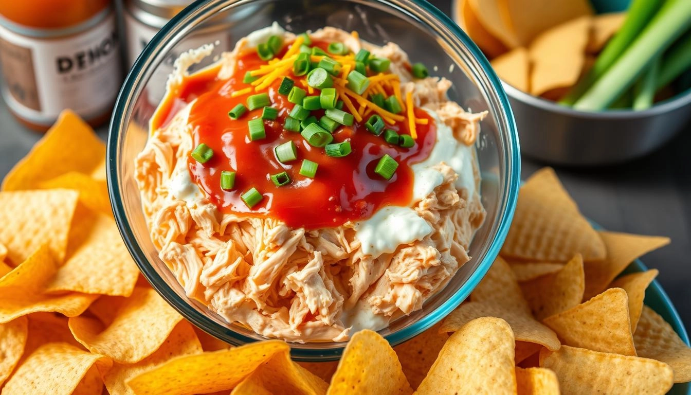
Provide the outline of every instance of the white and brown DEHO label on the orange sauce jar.
<path id="1" fill-rule="evenodd" d="M 69 37 L 26 37 L 0 26 L 0 64 L 3 95 L 21 118 L 50 125 L 63 109 L 103 115 L 122 82 L 115 13 Z"/>

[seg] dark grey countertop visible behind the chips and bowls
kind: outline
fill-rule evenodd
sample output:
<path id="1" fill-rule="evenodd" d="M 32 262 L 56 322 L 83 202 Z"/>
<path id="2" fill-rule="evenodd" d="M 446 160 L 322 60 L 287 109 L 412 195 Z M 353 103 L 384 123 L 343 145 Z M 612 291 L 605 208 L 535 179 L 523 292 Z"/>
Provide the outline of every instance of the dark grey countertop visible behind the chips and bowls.
<path id="1" fill-rule="evenodd" d="M 448 15 L 450 0 L 432 1 Z M 98 129 L 105 138 L 106 127 Z M 25 129 L 0 102 L 0 178 L 22 158 L 40 134 Z M 660 270 L 659 282 L 686 325 L 691 325 L 691 125 L 668 145 L 632 163 L 596 169 L 556 171 L 581 211 L 608 230 L 664 235 L 672 244 L 643 262 Z M 522 160 L 522 176 L 543 164 Z"/>

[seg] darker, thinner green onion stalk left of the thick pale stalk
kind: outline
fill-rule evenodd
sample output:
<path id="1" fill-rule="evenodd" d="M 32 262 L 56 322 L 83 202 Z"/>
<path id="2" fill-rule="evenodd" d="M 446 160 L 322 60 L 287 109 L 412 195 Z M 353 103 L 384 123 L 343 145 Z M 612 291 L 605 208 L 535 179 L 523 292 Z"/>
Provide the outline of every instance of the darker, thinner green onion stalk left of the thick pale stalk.
<path id="1" fill-rule="evenodd" d="M 559 104 L 572 106 L 588 88 L 602 76 L 609 66 L 636 39 L 645 25 L 652 19 L 664 0 L 634 0 L 626 14 L 624 24 L 609 40 L 605 49 L 598 55 L 592 68 L 578 80 L 578 83 L 559 101 Z"/>

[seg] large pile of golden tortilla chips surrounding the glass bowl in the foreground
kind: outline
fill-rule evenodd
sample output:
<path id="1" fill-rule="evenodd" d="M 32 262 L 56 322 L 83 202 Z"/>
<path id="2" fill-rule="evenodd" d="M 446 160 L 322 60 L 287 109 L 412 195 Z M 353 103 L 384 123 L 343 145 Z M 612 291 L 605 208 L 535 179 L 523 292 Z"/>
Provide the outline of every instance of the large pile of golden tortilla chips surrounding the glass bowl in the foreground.
<path id="1" fill-rule="evenodd" d="M 551 169 L 522 187 L 501 257 L 445 320 L 339 362 L 281 340 L 230 347 L 139 277 L 108 206 L 104 145 L 73 113 L 0 192 L 0 389 L 15 394 L 663 394 L 691 349 L 643 304 L 664 237 L 598 232 Z"/>

